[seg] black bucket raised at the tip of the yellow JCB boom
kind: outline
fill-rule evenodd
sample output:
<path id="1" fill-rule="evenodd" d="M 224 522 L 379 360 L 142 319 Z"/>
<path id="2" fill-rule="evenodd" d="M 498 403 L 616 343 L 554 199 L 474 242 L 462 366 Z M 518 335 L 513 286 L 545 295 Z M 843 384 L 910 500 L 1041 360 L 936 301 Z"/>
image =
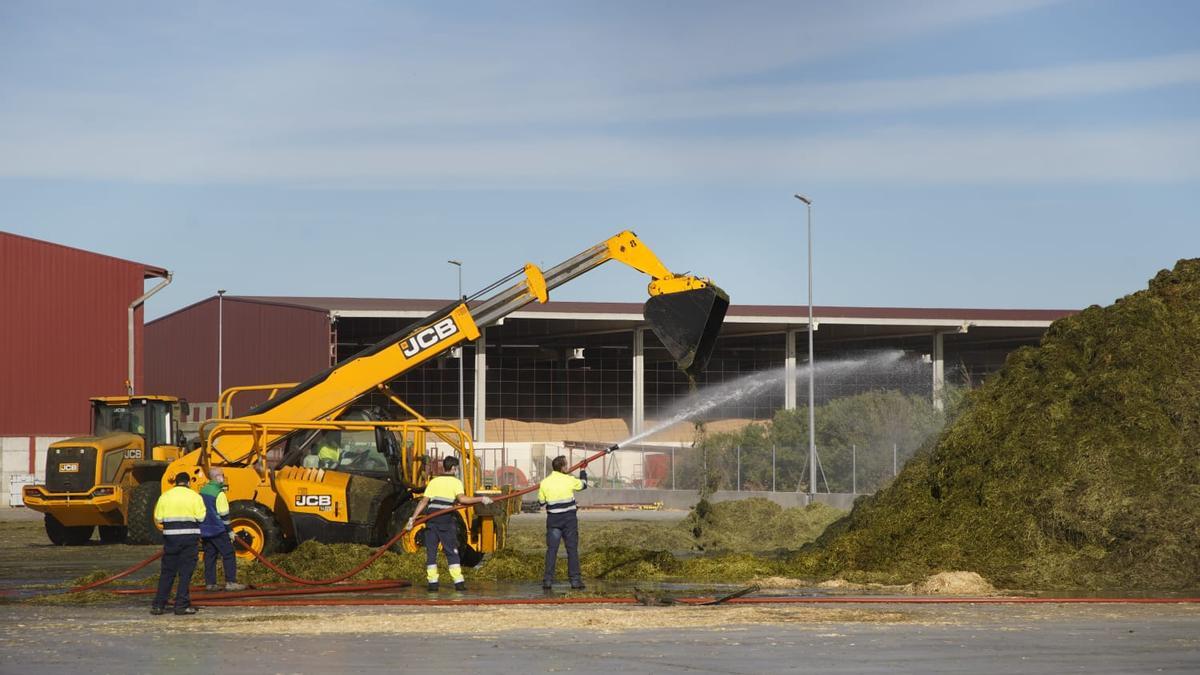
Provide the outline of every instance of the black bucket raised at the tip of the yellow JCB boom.
<path id="1" fill-rule="evenodd" d="M 730 297 L 716 286 L 652 295 L 642 313 L 659 341 L 689 377 L 708 365 L 721 331 Z"/>

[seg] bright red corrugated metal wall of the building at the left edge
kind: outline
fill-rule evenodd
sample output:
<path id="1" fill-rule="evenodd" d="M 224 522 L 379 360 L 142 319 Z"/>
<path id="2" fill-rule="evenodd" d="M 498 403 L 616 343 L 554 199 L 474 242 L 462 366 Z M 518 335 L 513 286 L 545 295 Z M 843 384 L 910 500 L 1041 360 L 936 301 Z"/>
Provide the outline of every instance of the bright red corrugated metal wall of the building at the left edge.
<path id="1" fill-rule="evenodd" d="M 0 436 L 86 434 L 88 398 L 125 393 L 126 317 L 144 273 L 130 261 L 0 232 Z M 142 309 L 134 342 L 140 360 Z"/>

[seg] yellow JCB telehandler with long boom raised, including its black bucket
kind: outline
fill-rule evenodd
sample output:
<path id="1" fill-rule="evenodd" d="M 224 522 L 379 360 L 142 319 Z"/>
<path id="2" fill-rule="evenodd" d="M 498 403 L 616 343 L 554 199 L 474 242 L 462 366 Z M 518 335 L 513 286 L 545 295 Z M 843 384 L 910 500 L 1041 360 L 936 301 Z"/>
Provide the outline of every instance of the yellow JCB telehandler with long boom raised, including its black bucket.
<path id="1" fill-rule="evenodd" d="M 542 270 L 526 264 L 470 298 L 415 321 L 378 344 L 301 383 L 269 384 L 269 399 L 240 418 L 228 417 L 240 390 L 222 394 L 218 419 L 202 426 L 203 446 L 172 462 L 164 489 L 180 472 L 193 485 L 220 466 L 228 484 L 234 532 L 248 549 L 271 554 L 305 540 L 379 544 L 412 515 L 431 464 L 428 443 L 460 456 L 468 494 L 478 485 L 472 441 L 461 430 L 430 422 L 390 395 L 386 383 L 521 307 L 545 303 L 548 292 L 619 261 L 652 277 L 644 317 L 679 368 L 700 372 L 715 346 L 728 297 L 708 279 L 671 273 L 632 232 L 622 232 Z M 365 419 L 354 408 L 380 392 L 406 420 Z M 503 545 L 508 518 L 500 504 L 472 506 L 454 515 L 460 554 L 472 566 Z M 420 527 L 402 540 L 416 550 Z M 244 555 L 248 555 L 244 551 Z"/>

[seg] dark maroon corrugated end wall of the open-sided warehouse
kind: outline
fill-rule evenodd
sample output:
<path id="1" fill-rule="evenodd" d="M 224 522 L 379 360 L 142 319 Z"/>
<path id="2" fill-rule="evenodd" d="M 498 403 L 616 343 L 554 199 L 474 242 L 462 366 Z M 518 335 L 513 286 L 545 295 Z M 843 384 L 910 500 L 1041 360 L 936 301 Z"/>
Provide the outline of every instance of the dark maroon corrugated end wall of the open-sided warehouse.
<path id="1" fill-rule="evenodd" d="M 326 312 L 229 295 L 223 304 L 224 388 L 298 382 L 329 368 Z M 210 298 L 146 324 L 148 392 L 216 401 L 217 306 Z"/>

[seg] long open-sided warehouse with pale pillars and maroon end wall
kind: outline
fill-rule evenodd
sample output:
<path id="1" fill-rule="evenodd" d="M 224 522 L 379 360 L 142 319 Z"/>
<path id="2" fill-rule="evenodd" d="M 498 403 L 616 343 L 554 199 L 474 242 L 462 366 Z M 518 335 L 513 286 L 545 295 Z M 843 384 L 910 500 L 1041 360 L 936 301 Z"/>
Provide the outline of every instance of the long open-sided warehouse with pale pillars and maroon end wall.
<path id="1" fill-rule="evenodd" d="M 222 388 L 306 380 L 448 304 L 216 295 L 146 325 L 146 384 L 188 399 L 194 419 L 203 419 Z M 1037 344 L 1068 313 L 817 306 L 817 402 L 881 388 L 937 401 L 948 380 L 978 384 L 1008 353 Z M 396 378 L 391 390 L 428 418 L 457 420 L 461 410 L 485 467 L 518 467 L 528 479 L 563 448 L 650 429 L 690 390 L 636 303 L 529 305 L 461 352 Z M 803 406 L 806 362 L 806 306 L 732 305 L 697 384 L 778 374 L 779 386 L 707 411 L 709 428 L 736 428 Z M 251 402 L 247 396 L 235 412 Z M 677 424 L 646 442 L 679 447 L 692 438 L 689 424 Z"/>

